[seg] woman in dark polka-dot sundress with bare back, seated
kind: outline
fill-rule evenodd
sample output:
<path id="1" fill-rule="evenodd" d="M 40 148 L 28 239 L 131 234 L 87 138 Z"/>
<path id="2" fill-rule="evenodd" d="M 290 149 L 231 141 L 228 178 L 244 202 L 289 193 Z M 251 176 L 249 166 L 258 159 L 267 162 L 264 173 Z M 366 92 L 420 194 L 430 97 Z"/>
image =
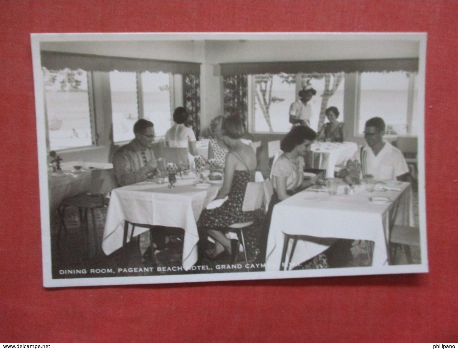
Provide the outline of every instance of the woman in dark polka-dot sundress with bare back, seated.
<path id="1" fill-rule="evenodd" d="M 243 212 L 242 205 L 245 189 L 248 182 L 255 181 L 256 155 L 253 149 L 244 144 L 240 138 L 245 131 L 239 119 L 226 118 L 223 120 L 221 139 L 229 148 L 224 164 L 224 181 L 218 192 L 218 199 L 228 199 L 222 206 L 203 210 L 197 222 L 197 227 L 203 234 L 203 238 L 210 236 L 215 240 L 215 251 L 207 255 L 211 260 L 223 256 L 224 252 L 230 256 L 230 262 L 234 263 L 239 251 L 239 240 L 229 239 L 223 230 L 229 225 L 247 222 L 253 219 L 252 212 Z M 205 231 L 207 234 L 205 234 Z M 245 239 L 247 249 L 251 248 Z M 251 245 L 251 244 L 250 244 Z"/>

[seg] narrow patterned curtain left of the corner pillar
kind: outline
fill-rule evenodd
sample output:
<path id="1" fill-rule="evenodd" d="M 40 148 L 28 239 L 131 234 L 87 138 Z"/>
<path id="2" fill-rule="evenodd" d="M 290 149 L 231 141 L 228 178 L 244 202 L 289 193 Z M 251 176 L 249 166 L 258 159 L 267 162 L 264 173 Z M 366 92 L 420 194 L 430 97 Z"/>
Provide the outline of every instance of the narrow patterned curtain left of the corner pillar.
<path id="1" fill-rule="evenodd" d="M 183 74 L 183 104 L 188 111 L 186 126 L 191 126 L 196 138 L 200 135 L 200 77 Z"/>

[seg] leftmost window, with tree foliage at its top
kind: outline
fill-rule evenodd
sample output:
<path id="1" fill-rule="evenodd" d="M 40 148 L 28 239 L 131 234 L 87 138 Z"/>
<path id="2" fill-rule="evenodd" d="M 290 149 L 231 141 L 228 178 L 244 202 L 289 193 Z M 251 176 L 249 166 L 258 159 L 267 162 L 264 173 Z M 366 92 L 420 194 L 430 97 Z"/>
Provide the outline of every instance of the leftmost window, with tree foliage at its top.
<path id="1" fill-rule="evenodd" d="M 95 144 L 90 73 L 43 68 L 50 150 Z"/>

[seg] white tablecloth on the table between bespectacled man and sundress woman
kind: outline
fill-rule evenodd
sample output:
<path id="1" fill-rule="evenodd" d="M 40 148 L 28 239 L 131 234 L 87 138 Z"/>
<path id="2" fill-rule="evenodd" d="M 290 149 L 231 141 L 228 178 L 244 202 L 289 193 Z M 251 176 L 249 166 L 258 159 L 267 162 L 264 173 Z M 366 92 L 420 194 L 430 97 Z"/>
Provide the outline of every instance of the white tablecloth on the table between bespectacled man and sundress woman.
<path id="1" fill-rule="evenodd" d="M 220 185 L 213 185 L 207 189 L 198 189 L 192 186 L 197 181 L 191 177 L 178 179 L 173 189 L 169 189 L 167 183 L 157 185 L 142 182 L 111 191 L 102 242 L 105 254 L 109 255 L 122 247 L 125 220 L 138 224 L 183 228 L 185 239 L 182 264 L 185 270 L 189 270 L 198 257 L 199 234 L 196 222 L 202 210 L 217 196 L 220 188 Z M 136 228 L 134 236 L 144 231 L 145 229 Z"/>

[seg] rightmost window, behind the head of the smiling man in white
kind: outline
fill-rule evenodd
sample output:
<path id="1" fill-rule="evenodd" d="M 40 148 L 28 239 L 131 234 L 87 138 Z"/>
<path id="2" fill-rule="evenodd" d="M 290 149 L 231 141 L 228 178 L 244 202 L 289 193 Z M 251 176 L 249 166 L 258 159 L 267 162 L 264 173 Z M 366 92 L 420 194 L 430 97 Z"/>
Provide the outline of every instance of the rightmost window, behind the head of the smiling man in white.
<path id="1" fill-rule="evenodd" d="M 357 131 L 364 132 L 365 122 L 380 116 L 386 124 L 387 135 L 416 134 L 416 89 L 413 73 L 360 73 L 359 118 Z"/>

